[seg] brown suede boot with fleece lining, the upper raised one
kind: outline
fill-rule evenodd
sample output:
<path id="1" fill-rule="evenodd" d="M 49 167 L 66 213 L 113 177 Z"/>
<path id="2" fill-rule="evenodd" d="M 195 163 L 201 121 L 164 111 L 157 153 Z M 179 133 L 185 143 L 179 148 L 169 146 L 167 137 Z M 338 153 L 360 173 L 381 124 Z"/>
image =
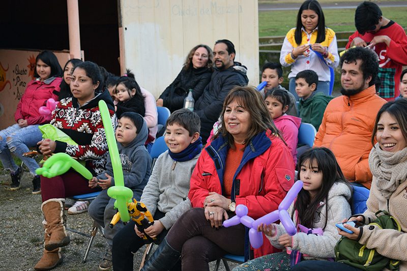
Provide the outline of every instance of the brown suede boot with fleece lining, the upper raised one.
<path id="1" fill-rule="evenodd" d="M 41 204 L 47 222 L 46 233 L 49 236 L 48 242 L 45 239 L 45 249 L 53 251 L 56 248 L 64 247 L 71 241 L 65 229 L 64 199 L 49 199 Z"/>

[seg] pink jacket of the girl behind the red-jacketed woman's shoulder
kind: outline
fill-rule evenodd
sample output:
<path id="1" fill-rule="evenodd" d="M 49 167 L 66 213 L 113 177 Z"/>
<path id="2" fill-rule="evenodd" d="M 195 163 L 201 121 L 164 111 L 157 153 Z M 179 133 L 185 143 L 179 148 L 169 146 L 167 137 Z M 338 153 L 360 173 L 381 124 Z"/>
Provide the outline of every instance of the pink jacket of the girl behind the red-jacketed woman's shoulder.
<path id="1" fill-rule="evenodd" d="M 301 118 L 284 114 L 274 118 L 273 122 L 281 131 L 283 139 L 293 155 L 294 163 L 297 164 L 298 129 L 301 125 Z"/>

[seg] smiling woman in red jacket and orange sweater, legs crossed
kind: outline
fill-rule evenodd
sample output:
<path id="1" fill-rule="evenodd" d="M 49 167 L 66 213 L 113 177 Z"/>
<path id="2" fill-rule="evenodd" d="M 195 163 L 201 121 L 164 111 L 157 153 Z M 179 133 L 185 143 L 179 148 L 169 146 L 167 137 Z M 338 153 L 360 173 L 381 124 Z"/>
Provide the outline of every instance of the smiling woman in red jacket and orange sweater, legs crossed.
<path id="1" fill-rule="evenodd" d="M 181 256 L 182 269 L 208 270 L 226 253 L 258 257 L 275 252 L 270 242 L 250 251 L 240 224 L 222 227 L 245 204 L 257 219 L 278 208 L 294 184 L 294 162 L 260 93 L 237 86 L 223 103 L 220 129 L 191 176 L 192 209 L 171 228 L 142 270 L 166 270 Z M 245 245 L 246 244 L 246 245 Z"/>

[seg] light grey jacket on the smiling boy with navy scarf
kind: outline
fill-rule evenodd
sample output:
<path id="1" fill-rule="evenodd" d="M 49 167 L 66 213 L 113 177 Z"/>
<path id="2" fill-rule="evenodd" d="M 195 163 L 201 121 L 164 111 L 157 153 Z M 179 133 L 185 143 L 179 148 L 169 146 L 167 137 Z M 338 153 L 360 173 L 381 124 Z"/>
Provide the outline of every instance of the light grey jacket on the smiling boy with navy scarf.
<path id="1" fill-rule="evenodd" d="M 165 213 L 159 221 L 168 230 L 188 209 L 192 208 L 188 199 L 189 180 L 199 155 L 192 160 L 177 162 L 168 150 L 161 154 L 140 201 L 146 204 L 154 216 L 156 210 Z"/>

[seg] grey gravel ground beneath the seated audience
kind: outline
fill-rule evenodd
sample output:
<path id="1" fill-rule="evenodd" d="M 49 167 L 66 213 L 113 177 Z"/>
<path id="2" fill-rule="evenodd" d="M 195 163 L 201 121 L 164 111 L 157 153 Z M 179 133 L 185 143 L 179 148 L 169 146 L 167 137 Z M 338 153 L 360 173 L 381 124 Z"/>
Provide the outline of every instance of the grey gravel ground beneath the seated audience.
<path id="1" fill-rule="evenodd" d="M 24 172 L 21 188 L 17 191 L 6 190 L 11 182 L 6 171 L 0 171 L 0 271 L 34 270 L 44 249 L 43 216 L 41 213 L 41 195 L 31 193 L 31 175 Z M 88 213 L 67 215 L 67 226 L 81 232 L 90 233 L 93 226 Z M 53 270 L 99 270 L 99 262 L 105 253 L 106 242 L 98 232 L 88 259 L 82 259 L 88 245 L 89 238 L 69 232 L 71 243 L 63 248 L 64 262 Z M 140 249 L 134 256 L 134 270 L 138 270 L 144 249 Z M 229 263 L 233 268 L 234 263 Z M 214 269 L 214 262 L 210 263 Z M 225 270 L 221 263 L 219 270 Z"/>

